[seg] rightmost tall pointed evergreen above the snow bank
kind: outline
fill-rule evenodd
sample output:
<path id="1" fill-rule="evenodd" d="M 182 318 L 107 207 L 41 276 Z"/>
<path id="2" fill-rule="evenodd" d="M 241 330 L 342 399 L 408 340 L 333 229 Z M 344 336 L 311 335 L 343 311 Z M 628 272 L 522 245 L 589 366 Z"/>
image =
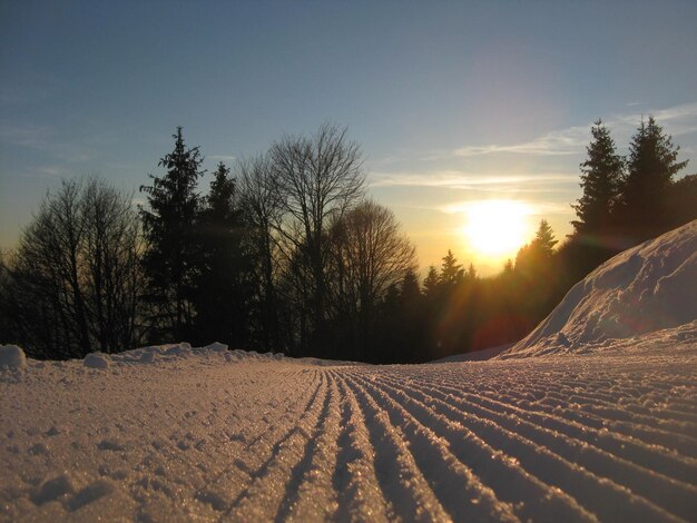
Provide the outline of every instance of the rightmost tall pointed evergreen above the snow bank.
<path id="1" fill-rule="evenodd" d="M 622 189 L 624 223 L 635 241 L 670 228 L 668 196 L 673 177 L 687 165 L 677 161 L 678 146 L 665 135 L 654 117 L 631 139 L 627 180 Z"/>

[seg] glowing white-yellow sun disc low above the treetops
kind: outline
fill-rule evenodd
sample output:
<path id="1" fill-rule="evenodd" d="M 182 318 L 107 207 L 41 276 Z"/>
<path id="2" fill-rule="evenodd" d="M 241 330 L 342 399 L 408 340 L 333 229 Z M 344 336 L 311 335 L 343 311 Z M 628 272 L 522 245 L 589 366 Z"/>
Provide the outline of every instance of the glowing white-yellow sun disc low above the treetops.
<path id="1" fill-rule="evenodd" d="M 464 237 L 470 247 L 489 258 L 513 256 L 526 243 L 531 209 L 521 201 L 473 201 L 465 208 Z"/>

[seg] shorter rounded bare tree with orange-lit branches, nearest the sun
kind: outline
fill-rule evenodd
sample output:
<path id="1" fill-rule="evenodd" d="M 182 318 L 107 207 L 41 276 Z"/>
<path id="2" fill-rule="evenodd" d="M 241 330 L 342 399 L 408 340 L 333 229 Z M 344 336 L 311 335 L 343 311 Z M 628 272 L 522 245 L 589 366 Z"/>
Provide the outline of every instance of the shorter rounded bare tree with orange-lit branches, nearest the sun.
<path id="1" fill-rule="evenodd" d="M 332 227 L 332 303 L 338 324 L 355 326 L 365 359 L 375 310 L 391 286 L 415 270 L 415 249 L 394 214 L 374 201 L 361 203 Z"/>

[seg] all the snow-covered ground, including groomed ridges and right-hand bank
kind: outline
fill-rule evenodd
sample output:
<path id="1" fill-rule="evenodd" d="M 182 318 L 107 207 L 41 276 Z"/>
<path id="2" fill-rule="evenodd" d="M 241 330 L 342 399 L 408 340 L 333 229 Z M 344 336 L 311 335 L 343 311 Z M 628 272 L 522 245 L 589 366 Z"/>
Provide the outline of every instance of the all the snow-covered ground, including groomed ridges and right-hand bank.
<path id="1" fill-rule="evenodd" d="M 694 521 L 689 235 L 610 260 L 503 359 L 0 365 L 0 520 Z"/>

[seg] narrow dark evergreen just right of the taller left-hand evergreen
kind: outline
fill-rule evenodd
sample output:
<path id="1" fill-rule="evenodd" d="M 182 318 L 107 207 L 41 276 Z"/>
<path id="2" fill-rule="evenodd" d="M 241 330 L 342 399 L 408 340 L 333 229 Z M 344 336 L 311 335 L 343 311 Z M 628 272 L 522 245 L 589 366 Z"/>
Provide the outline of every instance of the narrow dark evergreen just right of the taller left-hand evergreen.
<path id="1" fill-rule="evenodd" d="M 237 200 L 235 179 L 220 162 L 198 216 L 199 268 L 194 306 L 196 333 L 193 341 L 217 339 L 246 346 L 251 294 L 251 257 L 246 229 Z"/>

